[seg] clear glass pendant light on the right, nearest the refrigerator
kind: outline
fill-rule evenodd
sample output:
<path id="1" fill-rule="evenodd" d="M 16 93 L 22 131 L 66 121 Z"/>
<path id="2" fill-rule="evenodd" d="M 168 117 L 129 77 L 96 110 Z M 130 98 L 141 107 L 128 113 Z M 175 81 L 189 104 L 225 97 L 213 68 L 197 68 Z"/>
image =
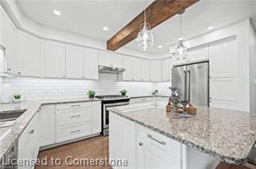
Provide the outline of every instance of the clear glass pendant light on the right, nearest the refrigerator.
<path id="1" fill-rule="evenodd" d="M 185 11 L 182 11 L 179 13 L 180 15 L 180 38 L 178 39 L 177 44 L 175 45 L 174 48 L 174 57 L 177 60 L 189 60 L 188 55 L 187 55 L 187 48 L 184 44 L 184 39 L 182 38 L 182 14 Z"/>

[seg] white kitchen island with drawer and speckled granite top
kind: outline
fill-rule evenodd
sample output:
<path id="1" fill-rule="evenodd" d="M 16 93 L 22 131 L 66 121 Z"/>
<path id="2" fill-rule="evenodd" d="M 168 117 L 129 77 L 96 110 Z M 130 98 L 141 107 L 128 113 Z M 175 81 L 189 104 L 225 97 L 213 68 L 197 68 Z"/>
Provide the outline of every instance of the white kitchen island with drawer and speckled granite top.
<path id="1" fill-rule="evenodd" d="M 130 168 L 215 168 L 240 165 L 256 139 L 256 118 L 248 112 L 197 107 L 197 115 L 175 119 L 166 102 L 110 110 L 110 158 Z M 123 138 L 116 141 L 115 138 Z"/>

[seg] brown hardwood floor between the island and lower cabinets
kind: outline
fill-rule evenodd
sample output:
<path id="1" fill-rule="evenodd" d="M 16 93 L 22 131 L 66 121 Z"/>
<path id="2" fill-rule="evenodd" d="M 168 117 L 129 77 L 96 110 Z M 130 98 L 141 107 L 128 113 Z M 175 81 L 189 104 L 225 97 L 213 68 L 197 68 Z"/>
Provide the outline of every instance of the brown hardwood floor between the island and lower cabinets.
<path id="1" fill-rule="evenodd" d="M 103 160 L 109 157 L 109 137 L 97 136 L 86 140 L 81 140 L 56 148 L 40 151 L 38 158 L 41 165 L 36 169 L 52 169 L 52 168 L 107 168 L 108 165 L 95 165 L 95 163 L 103 163 Z M 90 160 L 90 164 L 85 162 Z M 47 163 L 46 163 L 47 161 Z M 61 163 L 60 163 L 61 161 Z M 89 161 L 87 161 L 89 162 Z M 100 163 L 100 164 L 102 164 Z M 73 164 L 73 165 L 72 165 Z"/>

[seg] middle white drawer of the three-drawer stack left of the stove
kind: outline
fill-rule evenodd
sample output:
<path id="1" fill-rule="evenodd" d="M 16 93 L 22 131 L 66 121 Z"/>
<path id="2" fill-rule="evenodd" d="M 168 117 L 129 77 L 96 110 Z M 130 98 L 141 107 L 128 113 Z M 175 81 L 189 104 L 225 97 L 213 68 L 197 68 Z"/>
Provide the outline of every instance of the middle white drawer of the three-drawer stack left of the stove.
<path id="1" fill-rule="evenodd" d="M 56 126 L 91 122 L 92 107 L 56 111 Z"/>

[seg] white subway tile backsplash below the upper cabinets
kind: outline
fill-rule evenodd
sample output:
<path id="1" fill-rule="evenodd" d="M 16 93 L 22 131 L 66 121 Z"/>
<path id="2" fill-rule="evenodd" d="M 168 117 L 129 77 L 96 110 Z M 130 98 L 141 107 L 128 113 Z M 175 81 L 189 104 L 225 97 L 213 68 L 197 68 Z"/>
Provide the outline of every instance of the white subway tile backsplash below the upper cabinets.
<path id="1" fill-rule="evenodd" d="M 95 90 L 96 95 L 119 94 L 126 89 L 127 95 L 148 95 L 158 89 L 160 94 L 168 94 L 169 82 L 119 82 L 116 74 L 99 74 L 98 81 L 71 79 L 41 79 L 12 77 L 4 78 L 10 85 L 10 94 L 20 92 L 24 100 L 83 98 L 87 90 Z"/>

